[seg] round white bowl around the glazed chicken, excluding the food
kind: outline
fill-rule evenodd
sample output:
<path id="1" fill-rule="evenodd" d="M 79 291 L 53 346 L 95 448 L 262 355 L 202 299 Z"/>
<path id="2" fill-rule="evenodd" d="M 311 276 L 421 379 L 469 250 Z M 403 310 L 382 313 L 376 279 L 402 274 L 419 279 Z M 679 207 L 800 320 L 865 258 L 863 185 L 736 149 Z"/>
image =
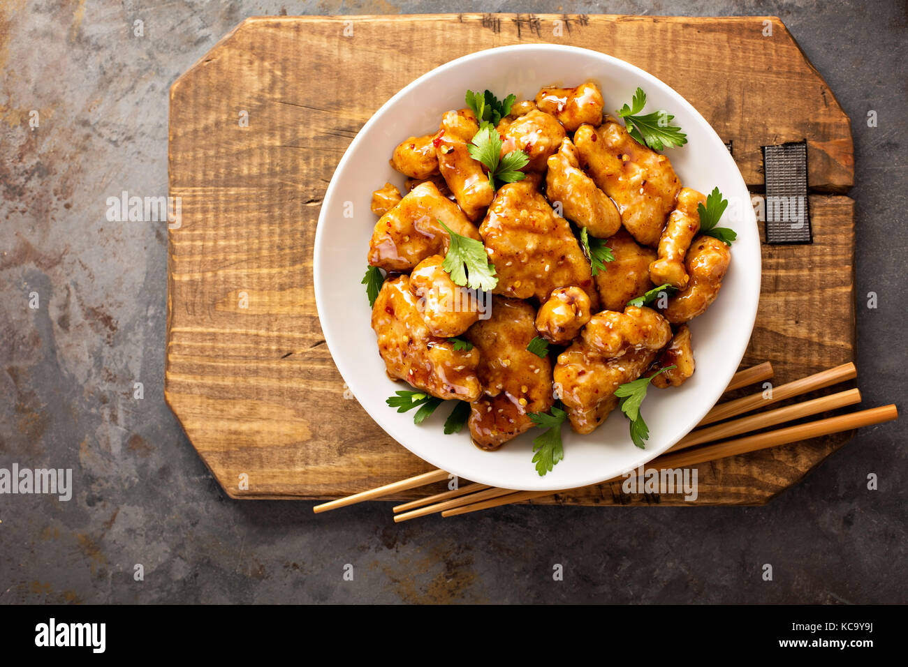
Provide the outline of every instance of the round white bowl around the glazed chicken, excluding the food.
<path id="1" fill-rule="evenodd" d="M 489 89 L 498 98 L 515 93 L 532 99 L 551 84 L 599 83 L 606 112 L 629 103 L 637 86 L 646 92 L 646 113 L 665 109 L 687 134 L 682 148 L 666 149 L 681 182 L 701 192 L 716 186 L 730 202 L 722 226 L 737 232 L 732 261 L 716 302 L 691 322 L 696 372 L 682 387 L 650 388 L 642 412 L 650 429 L 646 449 L 628 436 L 627 418 L 615 410 L 594 433 L 579 436 L 562 427 L 564 460 L 539 476 L 532 458 L 533 428 L 496 452 L 470 442 L 465 426 L 444 435 L 450 407 L 442 404 L 421 425 L 413 411 L 399 414 L 385 404 L 398 389 L 385 374 L 365 286 L 366 251 L 376 217 L 371 192 L 390 181 L 394 147 L 409 136 L 438 129 L 441 114 L 461 109 L 464 93 Z M 352 202 L 352 218 L 344 217 Z M 370 416 L 401 445 L 449 473 L 481 484 L 526 490 L 557 490 L 596 484 L 645 464 L 685 436 L 722 395 L 744 356 L 760 295 L 760 240 L 744 179 L 709 123 L 681 95 L 634 65 L 587 49 L 554 44 L 504 46 L 466 55 L 424 74 L 382 105 L 344 153 L 321 205 L 314 250 L 315 299 L 321 329 L 350 391 Z M 331 415 L 324 418 L 331 419 Z M 351 465 L 353 465 L 351 463 Z"/>

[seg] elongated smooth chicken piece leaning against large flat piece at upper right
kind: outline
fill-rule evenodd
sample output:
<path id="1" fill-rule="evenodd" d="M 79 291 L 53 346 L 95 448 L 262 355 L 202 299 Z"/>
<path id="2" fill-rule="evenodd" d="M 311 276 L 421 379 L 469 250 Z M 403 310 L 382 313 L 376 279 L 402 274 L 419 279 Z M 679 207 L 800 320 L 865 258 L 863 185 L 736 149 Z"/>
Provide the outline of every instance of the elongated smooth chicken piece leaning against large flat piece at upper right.
<path id="1" fill-rule="evenodd" d="M 546 196 L 553 206 L 560 201 L 565 218 L 586 227 L 597 239 L 607 239 L 621 229 L 615 202 L 580 169 L 577 147 L 568 138 L 548 158 Z"/>

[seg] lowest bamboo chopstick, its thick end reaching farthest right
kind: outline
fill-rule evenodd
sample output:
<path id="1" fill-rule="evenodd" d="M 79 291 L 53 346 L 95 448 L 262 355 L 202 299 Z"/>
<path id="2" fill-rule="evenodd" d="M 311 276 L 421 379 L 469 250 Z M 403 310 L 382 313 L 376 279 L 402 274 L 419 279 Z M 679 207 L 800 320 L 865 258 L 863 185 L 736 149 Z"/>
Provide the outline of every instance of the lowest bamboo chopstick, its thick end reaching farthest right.
<path id="1" fill-rule="evenodd" d="M 853 428 L 869 427 L 873 424 L 883 424 L 887 421 L 893 421 L 898 418 L 898 409 L 890 404 L 883 407 L 872 407 L 868 410 L 860 410 L 847 415 L 838 417 L 827 417 L 818 419 L 806 424 L 799 424 L 795 427 L 780 428 L 768 433 L 760 433 L 755 436 L 740 437 L 735 440 L 697 447 L 690 451 L 674 452 L 657 457 L 651 461 L 653 467 L 676 468 L 684 466 L 696 466 L 709 461 L 715 461 L 726 456 L 737 456 L 748 452 L 755 452 L 759 449 L 769 447 L 788 445 L 799 440 L 805 440 L 813 437 L 829 436 L 841 431 L 849 431 Z M 608 482 L 615 482 L 622 479 L 622 476 L 613 477 Z M 570 489 L 566 489 L 570 490 Z M 523 500 L 541 498 L 546 495 L 555 495 L 558 491 L 520 491 L 515 494 L 503 495 L 497 498 L 484 500 L 472 505 L 462 505 L 453 509 L 445 510 L 442 516 L 464 515 L 470 512 L 477 512 L 489 507 L 498 507 L 500 505 L 510 505 Z"/>

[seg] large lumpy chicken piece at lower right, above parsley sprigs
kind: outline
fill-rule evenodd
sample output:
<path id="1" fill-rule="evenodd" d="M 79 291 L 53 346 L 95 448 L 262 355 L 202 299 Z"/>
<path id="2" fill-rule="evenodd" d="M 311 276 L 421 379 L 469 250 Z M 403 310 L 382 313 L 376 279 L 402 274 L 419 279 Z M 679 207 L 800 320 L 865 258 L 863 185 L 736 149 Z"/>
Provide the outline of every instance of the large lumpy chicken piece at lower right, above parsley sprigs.
<path id="1" fill-rule="evenodd" d="M 639 378 L 672 336 L 666 320 L 651 309 L 628 308 L 627 318 L 618 327 L 608 315 L 606 311 L 593 316 L 555 365 L 555 390 L 577 433 L 592 433 L 606 420 L 617 406 L 617 387 Z M 612 347 L 622 350 L 619 357 L 609 357 L 587 342 L 608 340 L 616 328 L 619 335 L 627 336 L 612 342 Z"/>

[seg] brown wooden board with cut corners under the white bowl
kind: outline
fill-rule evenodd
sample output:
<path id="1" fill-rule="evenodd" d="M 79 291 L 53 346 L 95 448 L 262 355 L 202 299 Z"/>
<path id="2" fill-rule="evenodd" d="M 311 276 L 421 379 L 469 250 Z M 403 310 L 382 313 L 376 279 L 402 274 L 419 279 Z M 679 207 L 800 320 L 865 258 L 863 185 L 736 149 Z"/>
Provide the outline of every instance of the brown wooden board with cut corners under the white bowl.
<path id="1" fill-rule="evenodd" d="M 169 234 L 164 395 L 229 495 L 331 498 L 430 469 L 370 419 L 324 345 L 311 263 L 321 198 L 350 140 L 401 87 L 460 55 L 538 42 L 615 55 L 674 87 L 733 142 L 752 191 L 764 185 L 762 146 L 806 140 L 814 242 L 764 244 L 744 366 L 768 359 L 781 384 L 854 360 L 854 202 L 841 196 L 854 180 L 850 122 L 779 19 L 252 18 L 173 83 L 170 103 L 182 211 Z M 696 505 L 764 503 L 849 437 L 700 466 Z M 535 502 L 684 504 L 618 485 Z"/>

